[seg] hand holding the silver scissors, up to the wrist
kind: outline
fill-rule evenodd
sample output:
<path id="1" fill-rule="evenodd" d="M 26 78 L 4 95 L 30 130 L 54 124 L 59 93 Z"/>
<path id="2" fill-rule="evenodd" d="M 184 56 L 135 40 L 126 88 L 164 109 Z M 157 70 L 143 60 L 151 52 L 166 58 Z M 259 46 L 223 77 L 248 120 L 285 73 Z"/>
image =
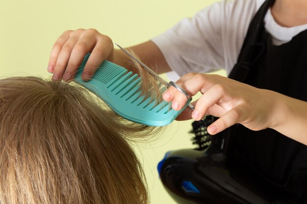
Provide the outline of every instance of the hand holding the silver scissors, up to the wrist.
<path id="1" fill-rule="evenodd" d="M 220 117 L 208 127 L 212 135 L 221 132 L 235 123 L 241 123 L 252 130 L 271 127 L 275 110 L 275 92 L 231 80 L 220 75 L 189 73 L 177 82 L 191 95 L 198 91 L 203 95 L 192 104 L 195 110 L 185 109 L 179 120 L 200 120 L 205 114 Z M 172 101 L 172 108 L 180 110 L 187 98 L 174 87 L 168 89 L 163 99 Z"/>

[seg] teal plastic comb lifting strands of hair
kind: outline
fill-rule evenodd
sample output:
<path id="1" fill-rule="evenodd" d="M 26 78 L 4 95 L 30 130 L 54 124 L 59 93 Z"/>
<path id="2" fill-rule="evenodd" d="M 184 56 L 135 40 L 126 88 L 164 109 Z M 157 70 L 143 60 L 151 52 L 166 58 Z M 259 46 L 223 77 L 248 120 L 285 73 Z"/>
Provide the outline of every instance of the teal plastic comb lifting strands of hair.
<path id="1" fill-rule="evenodd" d="M 174 111 L 171 103 L 166 101 L 156 104 L 156 101 L 141 95 L 141 77 L 138 74 L 106 60 L 96 70 L 93 78 L 85 82 L 81 74 L 88 58 L 89 54 L 78 68 L 74 81 L 94 92 L 115 113 L 132 122 L 149 126 L 168 125 L 191 101 L 188 100 L 180 111 Z"/>

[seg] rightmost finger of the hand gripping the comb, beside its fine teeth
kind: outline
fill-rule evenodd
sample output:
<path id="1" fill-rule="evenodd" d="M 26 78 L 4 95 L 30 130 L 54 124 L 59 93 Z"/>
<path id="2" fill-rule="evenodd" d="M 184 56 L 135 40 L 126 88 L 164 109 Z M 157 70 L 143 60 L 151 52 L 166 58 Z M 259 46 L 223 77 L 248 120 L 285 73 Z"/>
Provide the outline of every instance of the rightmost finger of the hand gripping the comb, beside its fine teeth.
<path id="1" fill-rule="evenodd" d="M 82 79 L 85 81 L 90 80 L 104 60 L 113 61 L 113 50 L 113 43 L 107 36 L 98 40 L 84 67 L 81 75 Z"/>

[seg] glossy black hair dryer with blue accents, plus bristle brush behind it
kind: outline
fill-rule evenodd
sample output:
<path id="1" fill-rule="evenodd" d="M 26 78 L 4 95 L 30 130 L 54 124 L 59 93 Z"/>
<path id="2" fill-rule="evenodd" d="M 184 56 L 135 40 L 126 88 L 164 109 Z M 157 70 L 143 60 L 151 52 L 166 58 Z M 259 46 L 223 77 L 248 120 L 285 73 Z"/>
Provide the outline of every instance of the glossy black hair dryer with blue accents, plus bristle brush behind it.
<path id="1" fill-rule="evenodd" d="M 158 163 L 160 179 L 178 204 L 287 204 L 249 168 L 230 157 L 230 132 L 210 136 L 214 117 L 192 123 L 196 149 L 169 151 Z M 239 159 L 240 160 L 240 159 Z M 265 187 L 264 187 L 265 186 Z"/>

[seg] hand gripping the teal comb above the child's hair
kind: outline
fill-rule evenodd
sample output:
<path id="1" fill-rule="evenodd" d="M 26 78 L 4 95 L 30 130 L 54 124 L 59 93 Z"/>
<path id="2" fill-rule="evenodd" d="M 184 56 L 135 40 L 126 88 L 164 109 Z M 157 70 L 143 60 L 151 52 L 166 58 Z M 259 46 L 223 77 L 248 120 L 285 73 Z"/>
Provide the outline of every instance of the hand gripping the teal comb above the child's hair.
<path id="1" fill-rule="evenodd" d="M 48 71 L 53 73 L 52 80 L 71 81 L 84 56 L 91 52 L 81 75 L 89 80 L 104 60 L 113 61 L 112 40 L 95 29 L 65 31 L 54 43 Z"/>

